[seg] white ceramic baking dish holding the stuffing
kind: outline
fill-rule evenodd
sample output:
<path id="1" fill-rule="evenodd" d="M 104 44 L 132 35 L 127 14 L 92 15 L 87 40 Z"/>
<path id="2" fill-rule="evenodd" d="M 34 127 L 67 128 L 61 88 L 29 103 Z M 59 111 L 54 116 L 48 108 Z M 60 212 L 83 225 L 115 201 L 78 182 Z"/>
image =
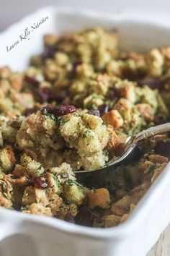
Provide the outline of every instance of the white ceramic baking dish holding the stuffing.
<path id="1" fill-rule="evenodd" d="M 61 34 L 96 25 L 117 29 L 120 47 L 125 50 L 147 51 L 170 42 L 169 19 L 161 14 L 102 14 L 45 7 L 1 33 L 0 66 L 23 70 L 30 56 L 42 51 L 45 33 Z M 93 229 L 1 208 L 0 255 L 145 256 L 170 222 L 169 181 L 170 165 L 140 200 L 128 221 L 109 229 Z"/>

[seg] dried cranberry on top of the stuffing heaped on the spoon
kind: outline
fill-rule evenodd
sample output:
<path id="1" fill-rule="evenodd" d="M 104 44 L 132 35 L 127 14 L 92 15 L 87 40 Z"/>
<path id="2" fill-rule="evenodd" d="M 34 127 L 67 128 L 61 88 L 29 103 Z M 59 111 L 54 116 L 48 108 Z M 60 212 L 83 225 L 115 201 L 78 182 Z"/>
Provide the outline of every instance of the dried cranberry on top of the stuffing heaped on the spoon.
<path id="1" fill-rule="evenodd" d="M 76 111 L 76 107 L 73 105 L 62 104 L 59 106 L 47 105 L 41 109 L 41 111 L 47 111 L 49 114 L 53 114 L 54 116 L 64 116 L 66 114 L 71 114 Z"/>

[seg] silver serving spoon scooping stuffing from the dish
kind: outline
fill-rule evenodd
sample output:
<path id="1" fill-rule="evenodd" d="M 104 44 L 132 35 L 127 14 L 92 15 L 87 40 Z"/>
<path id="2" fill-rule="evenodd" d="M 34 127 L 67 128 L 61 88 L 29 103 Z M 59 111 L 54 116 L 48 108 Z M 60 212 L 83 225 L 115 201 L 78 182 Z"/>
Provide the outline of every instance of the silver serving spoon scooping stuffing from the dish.
<path id="1" fill-rule="evenodd" d="M 122 153 L 122 155 L 120 155 L 117 158 L 113 158 L 105 166 L 102 166 L 101 168 L 98 168 L 96 170 L 74 171 L 74 173 L 82 174 L 82 173 L 88 173 L 91 171 L 109 170 L 112 168 L 112 166 L 115 166 L 115 164 L 120 163 L 122 160 L 124 160 L 133 151 L 133 149 L 138 144 L 138 142 L 140 142 L 140 140 L 147 139 L 148 137 L 152 137 L 162 132 L 169 132 L 169 131 L 170 131 L 170 123 L 161 124 L 156 127 L 144 129 L 142 132 L 139 132 L 138 135 L 129 136 L 125 141 L 125 150 Z"/>

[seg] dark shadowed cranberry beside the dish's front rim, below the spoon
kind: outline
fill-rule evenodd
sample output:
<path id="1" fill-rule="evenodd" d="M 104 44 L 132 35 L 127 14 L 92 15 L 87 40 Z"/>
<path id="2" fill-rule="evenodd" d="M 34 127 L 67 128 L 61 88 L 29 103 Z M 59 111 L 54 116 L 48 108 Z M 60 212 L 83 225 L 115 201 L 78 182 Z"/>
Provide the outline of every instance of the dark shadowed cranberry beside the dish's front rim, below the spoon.
<path id="1" fill-rule="evenodd" d="M 93 215 L 89 208 L 81 208 L 79 213 L 76 215 L 76 223 L 82 226 L 91 226 Z"/>

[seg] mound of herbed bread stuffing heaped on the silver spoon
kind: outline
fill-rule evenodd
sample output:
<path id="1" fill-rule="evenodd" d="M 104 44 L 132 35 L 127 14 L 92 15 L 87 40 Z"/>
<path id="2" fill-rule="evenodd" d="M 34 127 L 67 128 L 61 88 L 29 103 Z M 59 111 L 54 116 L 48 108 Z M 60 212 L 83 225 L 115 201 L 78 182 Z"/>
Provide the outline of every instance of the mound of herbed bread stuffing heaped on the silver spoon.
<path id="1" fill-rule="evenodd" d="M 48 115 L 46 114 L 46 116 Z M 46 116 L 43 113 L 32 114 L 23 121 L 17 132 L 17 142 L 20 149 L 32 148 L 36 151 L 37 148 L 37 155 L 42 158 L 45 151 L 48 153 L 53 149 L 58 152 L 67 144 L 69 148 L 76 149 L 81 166 L 87 167 L 88 164 L 85 163 L 91 161 L 92 164 L 93 159 L 94 166 L 104 165 L 107 161 L 104 148 L 107 146 L 109 135 L 107 127 L 100 117 L 86 113 L 82 116 L 81 114 L 68 114 L 57 120 L 51 120 L 50 116 Z M 52 155 L 51 152 L 50 157 Z M 97 155 L 103 155 L 103 160 L 98 161 Z M 55 162 L 51 165 L 55 166 Z"/>

